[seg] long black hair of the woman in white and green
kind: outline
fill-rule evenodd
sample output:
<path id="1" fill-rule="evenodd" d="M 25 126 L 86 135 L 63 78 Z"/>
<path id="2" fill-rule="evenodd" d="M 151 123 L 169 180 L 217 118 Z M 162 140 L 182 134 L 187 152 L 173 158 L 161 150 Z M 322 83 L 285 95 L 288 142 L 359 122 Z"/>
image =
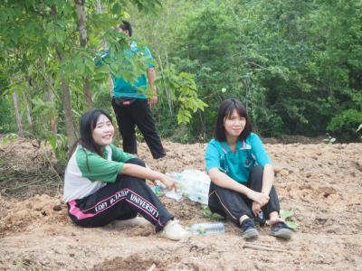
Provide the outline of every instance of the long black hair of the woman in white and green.
<path id="1" fill-rule="evenodd" d="M 110 119 L 110 122 L 112 123 L 112 118 L 110 117 L 110 114 L 101 109 L 90 110 L 87 113 L 85 113 L 83 116 L 81 116 L 81 125 L 80 125 L 81 137 L 71 148 L 71 154 L 74 152 L 74 149 L 77 145 L 81 145 L 90 152 L 103 156 L 102 148 L 93 139 L 93 130 L 97 126 L 97 121 L 100 118 L 100 115 L 108 117 Z"/>

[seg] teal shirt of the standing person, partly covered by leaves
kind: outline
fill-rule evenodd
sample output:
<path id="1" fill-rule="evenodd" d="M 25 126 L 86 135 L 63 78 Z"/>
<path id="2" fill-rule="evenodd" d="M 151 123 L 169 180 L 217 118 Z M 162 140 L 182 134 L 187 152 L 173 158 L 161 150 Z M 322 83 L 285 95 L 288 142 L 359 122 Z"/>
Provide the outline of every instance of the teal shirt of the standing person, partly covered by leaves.
<path id="1" fill-rule="evenodd" d="M 100 53 L 102 61 L 108 62 L 112 65 L 112 62 L 119 61 L 124 66 L 131 65 L 131 58 L 133 55 L 140 53 L 142 59 L 146 61 L 147 68 L 154 68 L 154 59 L 151 51 L 147 46 L 142 47 L 142 50 L 138 49 L 137 43 L 132 42 L 128 49 L 122 51 L 119 55 L 115 55 L 110 51 L 106 53 Z M 101 61 L 97 61 L 96 65 L 100 65 Z M 145 66 L 146 67 L 146 66 Z M 123 69 L 122 69 L 123 70 Z M 124 70 L 127 70 L 126 68 Z M 128 70 L 127 70 L 128 71 Z M 126 71 L 126 72 L 127 72 Z M 129 98 L 147 98 L 142 91 L 148 89 L 148 80 L 146 78 L 146 70 L 137 75 L 134 81 L 129 81 L 115 74 L 111 74 L 113 79 L 113 96 L 114 97 L 129 97 Z"/>

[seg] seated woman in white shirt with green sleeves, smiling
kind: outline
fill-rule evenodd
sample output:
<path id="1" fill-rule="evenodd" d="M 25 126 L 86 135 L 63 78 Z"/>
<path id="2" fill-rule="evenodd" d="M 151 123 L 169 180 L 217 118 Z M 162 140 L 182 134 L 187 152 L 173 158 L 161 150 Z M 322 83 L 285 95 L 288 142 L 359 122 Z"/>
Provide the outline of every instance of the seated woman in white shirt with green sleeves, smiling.
<path id="1" fill-rule="evenodd" d="M 75 224 L 101 227 L 115 220 L 129 224 L 140 219 L 139 213 L 161 237 L 179 240 L 190 235 L 145 179 L 163 182 L 167 189 L 175 189 L 176 181 L 112 145 L 114 127 L 107 112 L 92 110 L 84 114 L 80 135 L 65 170 L 63 191 Z"/>

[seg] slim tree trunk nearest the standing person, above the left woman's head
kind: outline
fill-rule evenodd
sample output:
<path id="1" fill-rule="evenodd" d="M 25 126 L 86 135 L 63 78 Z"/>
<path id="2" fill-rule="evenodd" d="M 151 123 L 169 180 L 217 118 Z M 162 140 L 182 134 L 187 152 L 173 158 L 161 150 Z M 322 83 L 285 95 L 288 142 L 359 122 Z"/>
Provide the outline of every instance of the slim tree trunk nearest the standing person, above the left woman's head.
<path id="1" fill-rule="evenodd" d="M 86 25 L 86 17 L 84 10 L 84 0 L 74 0 L 78 15 L 78 28 L 80 32 L 80 42 L 82 48 L 87 48 L 87 25 Z M 85 102 L 87 105 L 87 109 L 90 110 L 92 108 L 92 100 L 90 94 L 90 79 L 88 76 L 85 76 L 83 81 L 83 93 Z"/>

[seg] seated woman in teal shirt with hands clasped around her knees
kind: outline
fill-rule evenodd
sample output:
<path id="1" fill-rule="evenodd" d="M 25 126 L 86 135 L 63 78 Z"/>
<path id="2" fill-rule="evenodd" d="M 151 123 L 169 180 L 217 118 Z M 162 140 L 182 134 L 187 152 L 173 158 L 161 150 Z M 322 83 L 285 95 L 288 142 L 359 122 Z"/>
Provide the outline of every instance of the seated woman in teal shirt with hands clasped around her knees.
<path id="1" fill-rule="evenodd" d="M 279 216 L 271 159 L 260 137 L 252 133 L 246 107 L 239 100 L 226 99 L 219 107 L 205 162 L 212 181 L 210 210 L 241 227 L 244 238 L 257 238 L 254 220 L 263 225 L 266 219 L 272 236 L 291 238 L 291 229 Z"/>

